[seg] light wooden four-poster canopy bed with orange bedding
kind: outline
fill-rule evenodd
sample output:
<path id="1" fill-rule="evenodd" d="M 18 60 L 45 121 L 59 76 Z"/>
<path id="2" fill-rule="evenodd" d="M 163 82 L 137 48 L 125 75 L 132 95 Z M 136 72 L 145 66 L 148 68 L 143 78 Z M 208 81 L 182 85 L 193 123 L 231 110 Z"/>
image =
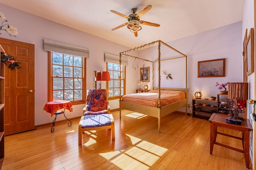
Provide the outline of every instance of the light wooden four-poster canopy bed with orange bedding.
<path id="1" fill-rule="evenodd" d="M 134 50 L 138 50 L 138 49 L 141 49 L 143 47 L 148 47 L 150 45 L 154 45 L 158 43 L 158 60 L 157 61 L 150 61 L 150 60 L 147 60 L 147 59 L 142 59 L 142 58 L 139 58 L 139 57 L 135 57 L 135 56 L 132 56 L 132 55 L 129 55 L 127 53 L 129 53 L 130 51 L 134 51 Z M 179 57 L 174 57 L 174 58 L 168 58 L 168 59 L 160 59 L 160 54 L 161 54 L 161 50 L 160 50 L 160 46 L 162 45 L 165 45 L 166 47 L 168 47 L 169 49 L 171 49 L 172 51 L 178 53 L 178 55 L 181 55 Z M 148 62 L 151 62 L 152 63 L 152 87 L 153 89 L 150 90 L 149 92 L 146 92 L 146 93 L 143 93 L 143 94 L 136 94 L 135 96 L 140 96 L 142 97 L 141 99 L 141 102 L 132 102 L 132 100 L 130 100 L 131 98 L 134 98 L 134 96 L 128 96 L 128 100 L 127 100 L 127 96 L 124 95 L 122 97 L 120 97 L 120 119 L 121 119 L 121 110 L 122 109 L 127 109 L 127 110 L 130 110 L 130 111 L 135 111 L 135 112 L 138 112 L 138 113 L 143 113 L 145 115 L 149 115 L 149 116 L 152 116 L 152 117 L 157 117 L 158 118 L 158 132 L 160 133 L 160 123 L 161 123 L 161 117 L 164 117 L 165 115 L 168 115 L 182 107 L 185 107 L 186 109 L 186 113 L 187 113 L 187 56 L 184 55 L 183 53 L 177 51 L 176 49 L 170 47 L 168 44 L 162 42 L 161 40 L 158 40 L 158 41 L 154 41 L 152 43 L 149 43 L 149 44 L 146 44 L 146 45 L 142 45 L 140 47 L 135 47 L 134 49 L 130 49 L 128 51 L 124 51 L 124 52 L 121 52 L 120 55 L 119 55 L 119 64 L 121 65 L 122 64 L 122 55 L 124 56 L 127 56 L 127 57 L 132 57 L 134 59 L 139 59 L 139 60 L 142 60 L 142 61 L 148 61 Z M 160 76 L 160 64 L 161 64 L 161 61 L 167 61 L 167 60 L 175 60 L 175 59 L 179 59 L 179 58 L 185 58 L 185 74 L 186 76 L 184 76 L 184 79 L 185 82 L 186 82 L 186 85 L 184 85 L 183 88 L 170 88 L 170 87 L 164 87 L 164 88 L 161 88 L 161 76 Z M 158 87 L 154 87 L 154 63 L 155 64 L 158 64 Z M 121 70 L 121 69 L 120 69 Z M 121 79 L 119 81 L 119 84 L 121 84 Z M 164 96 L 164 90 L 172 90 L 173 91 L 180 91 L 181 93 L 183 93 L 183 98 L 179 99 L 179 100 L 174 100 L 172 103 L 168 103 L 168 104 L 164 104 L 165 103 L 165 100 L 163 99 L 163 96 Z M 120 86 L 120 92 L 121 92 L 121 86 Z M 147 102 L 145 101 L 148 101 L 148 99 L 145 99 L 146 96 L 151 96 L 150 93 L 152 94 L 152 92 L 156 93 L 154 94 L 154 96 L 157 96 L 157 98 L 154 98 L 154 104 L 152 105 L 149 105 Z M 141 96 L 142 95 L 142 96 Z M 126 98 L 126 99 L 125 99 Z M 136 99 L 137 100 L 137 99 Z M 144 102 L 143 102 L 144 101 Z M 150 102 L 149 102 L 150 103 Z"/>

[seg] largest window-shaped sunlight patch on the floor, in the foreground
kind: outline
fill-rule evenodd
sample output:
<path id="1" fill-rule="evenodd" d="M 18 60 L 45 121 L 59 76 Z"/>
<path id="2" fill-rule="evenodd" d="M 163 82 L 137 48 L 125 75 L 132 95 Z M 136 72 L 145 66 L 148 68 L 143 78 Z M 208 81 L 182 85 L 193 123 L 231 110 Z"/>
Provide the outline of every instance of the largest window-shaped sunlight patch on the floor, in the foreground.
<path id="1" fill-rule="evenodd" d="M 116 150 L 100 153 L 102 157 L 110 160 L 121 169 L 142 169 L 148 170 L 163 156 L 168 149 L 160 147 L 137 137 L 127 135 L 132 146 L 125 150 Z"/>

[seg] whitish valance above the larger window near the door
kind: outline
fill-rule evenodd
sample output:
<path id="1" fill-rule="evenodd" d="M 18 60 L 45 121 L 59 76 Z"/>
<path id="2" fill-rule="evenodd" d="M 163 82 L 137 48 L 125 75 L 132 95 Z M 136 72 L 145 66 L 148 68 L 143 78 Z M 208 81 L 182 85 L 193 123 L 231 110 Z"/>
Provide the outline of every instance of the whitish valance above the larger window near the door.
<path id="1" fill-rule="evenodd" d="M 89 58 L 89 49 L 44 39 L 44 50 Z"/>

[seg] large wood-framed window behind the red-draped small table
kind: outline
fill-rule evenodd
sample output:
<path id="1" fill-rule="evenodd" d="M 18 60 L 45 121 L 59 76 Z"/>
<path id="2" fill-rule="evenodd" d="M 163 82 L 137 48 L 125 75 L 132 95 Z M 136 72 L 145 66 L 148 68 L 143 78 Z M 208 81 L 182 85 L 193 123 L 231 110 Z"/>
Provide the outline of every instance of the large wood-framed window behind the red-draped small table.
<path id="1" fill-rule="evenodd" d="M 49 101 L 69 100 L 84 104 L 86 58 L 49 52 Z"/>

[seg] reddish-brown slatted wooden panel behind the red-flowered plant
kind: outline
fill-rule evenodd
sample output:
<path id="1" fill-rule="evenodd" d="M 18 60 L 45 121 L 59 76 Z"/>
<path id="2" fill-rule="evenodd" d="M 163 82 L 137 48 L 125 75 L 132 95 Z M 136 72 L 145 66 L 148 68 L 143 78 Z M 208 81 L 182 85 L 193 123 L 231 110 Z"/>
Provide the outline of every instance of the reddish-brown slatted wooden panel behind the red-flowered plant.
<path id="1" fill-rule="evenodd" d="M 248 100 L 248 83 L 228 83 L 228 99 Z"/>

